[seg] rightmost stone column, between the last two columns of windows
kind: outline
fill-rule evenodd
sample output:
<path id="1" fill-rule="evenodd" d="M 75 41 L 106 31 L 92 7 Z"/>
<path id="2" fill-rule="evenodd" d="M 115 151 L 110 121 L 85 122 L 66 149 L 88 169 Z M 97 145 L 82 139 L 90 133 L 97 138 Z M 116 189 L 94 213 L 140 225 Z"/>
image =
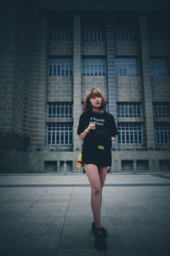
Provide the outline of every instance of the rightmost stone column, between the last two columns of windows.
<path id="1" fill-rule="evenodd" d="M 147 150 L 155 149 L 153 99 L 150 77 L 150 52 L 147 20 L 140 15 L 141 69 L 143 79 L 144 145 Z"/>

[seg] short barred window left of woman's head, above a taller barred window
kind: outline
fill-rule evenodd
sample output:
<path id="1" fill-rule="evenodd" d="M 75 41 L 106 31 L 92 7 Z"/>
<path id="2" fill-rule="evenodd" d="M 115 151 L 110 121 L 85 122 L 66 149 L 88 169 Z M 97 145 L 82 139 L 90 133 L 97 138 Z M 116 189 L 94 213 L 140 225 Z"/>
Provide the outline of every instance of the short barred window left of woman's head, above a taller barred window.
<path id="1" fill-rule="evenodd" d="M 72 118 L 72 103 L 48 103 L 48 119 L 50 118 Z"/>

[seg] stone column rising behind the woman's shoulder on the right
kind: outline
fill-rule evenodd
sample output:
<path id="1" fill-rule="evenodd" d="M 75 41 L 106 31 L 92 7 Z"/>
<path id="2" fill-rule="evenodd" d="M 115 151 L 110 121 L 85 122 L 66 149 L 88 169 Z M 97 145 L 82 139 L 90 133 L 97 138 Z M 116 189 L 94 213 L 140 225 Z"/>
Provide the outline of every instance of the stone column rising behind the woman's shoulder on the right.
<path id="1" fill-rule="evenodd" d="M 113 21 L 106 23 L 106 48 L 107 48 L 107 83 L 108 83 L 108 104 L 111 113 L 117 123 L 116 113 L 116 50 Z M 118 140 L 113 143 L 113 150 L 118 150 Z"/>

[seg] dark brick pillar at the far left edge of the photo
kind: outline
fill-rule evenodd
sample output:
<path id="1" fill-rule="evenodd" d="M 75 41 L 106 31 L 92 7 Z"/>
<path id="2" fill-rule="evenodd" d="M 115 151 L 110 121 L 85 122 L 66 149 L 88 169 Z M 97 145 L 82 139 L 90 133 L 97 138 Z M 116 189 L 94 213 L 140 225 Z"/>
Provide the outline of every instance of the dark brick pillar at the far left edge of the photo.
<path id="1" fill-rule="evenodd" d="M 5 141 L 8 142 L 8 137 L 14 132 L 13 105 L 17 17 L 14 2 L 6 1 L 3 5 L 0 10 L 0 132 L 5 137 Z"/>

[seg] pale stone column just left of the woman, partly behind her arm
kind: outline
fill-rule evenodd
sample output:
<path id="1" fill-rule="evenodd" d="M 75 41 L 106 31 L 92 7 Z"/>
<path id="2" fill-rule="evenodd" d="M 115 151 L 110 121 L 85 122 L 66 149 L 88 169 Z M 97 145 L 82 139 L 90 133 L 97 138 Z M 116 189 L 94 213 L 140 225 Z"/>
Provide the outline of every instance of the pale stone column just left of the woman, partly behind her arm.
<path id="1" fill-rule="evenodd" d="M 74 63 L 74 75 L 73 75 L 73 106 L 74 106 L 74 151 L 80 151 L 82 149 L 81 140 L 77 136 L 77 125 L 82 113 L 82 96 L 81 96 L 81 17 L 80 15 L 74 15 L 73 21 L 73 63 Z"/>

